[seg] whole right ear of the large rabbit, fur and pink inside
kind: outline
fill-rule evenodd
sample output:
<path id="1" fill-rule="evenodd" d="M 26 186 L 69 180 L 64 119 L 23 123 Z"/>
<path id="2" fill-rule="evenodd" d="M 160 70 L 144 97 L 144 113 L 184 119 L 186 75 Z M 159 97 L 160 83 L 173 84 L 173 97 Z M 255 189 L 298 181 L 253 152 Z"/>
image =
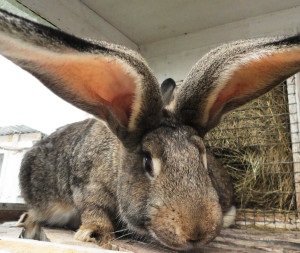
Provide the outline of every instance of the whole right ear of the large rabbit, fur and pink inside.
<path id="1" fill-rule="evenodd" d="M 266 93 L 299 70 L 299 35 L 226 44 L 193 67 L 169 110 L 204 136 L 223 114 Z"/>

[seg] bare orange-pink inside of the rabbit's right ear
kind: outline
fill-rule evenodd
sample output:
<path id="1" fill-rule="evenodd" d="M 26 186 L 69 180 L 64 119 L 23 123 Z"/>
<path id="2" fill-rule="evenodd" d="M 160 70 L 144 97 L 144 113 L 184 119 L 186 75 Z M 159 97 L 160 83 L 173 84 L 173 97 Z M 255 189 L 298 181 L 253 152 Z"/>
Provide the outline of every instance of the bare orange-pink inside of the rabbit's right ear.
<path id="1" fill-rule="evenodd" d="M 299 50 L 286 50 L 249 61 L 239 69 L 233 70 L 233 75 L 217 94 L 209 109 L 209 119 L 220 113 L 222 108 L 233 99 L 243 103 L 245 97 L 253 99 L 258 97 L 261 95 L 260 90 L 280 77 L 288 75 L 289 73 L 286 72 L 291 71 L 297 61 L 300 61 Z"/>

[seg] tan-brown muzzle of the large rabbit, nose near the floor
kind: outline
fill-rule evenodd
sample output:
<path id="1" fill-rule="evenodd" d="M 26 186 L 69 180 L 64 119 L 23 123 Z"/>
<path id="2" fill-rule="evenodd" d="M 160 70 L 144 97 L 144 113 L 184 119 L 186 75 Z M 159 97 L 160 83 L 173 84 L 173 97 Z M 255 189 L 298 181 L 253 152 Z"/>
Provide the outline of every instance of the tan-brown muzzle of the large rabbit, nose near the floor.
<path id="1" fill-rule="evenodd" d="M 197 210 L 165 206 L 151 216 L 148 230 L 152 237 L 176 250 L 197 249 L 211 242 L 223 222 L 219 203 L 199 205 Z"/>

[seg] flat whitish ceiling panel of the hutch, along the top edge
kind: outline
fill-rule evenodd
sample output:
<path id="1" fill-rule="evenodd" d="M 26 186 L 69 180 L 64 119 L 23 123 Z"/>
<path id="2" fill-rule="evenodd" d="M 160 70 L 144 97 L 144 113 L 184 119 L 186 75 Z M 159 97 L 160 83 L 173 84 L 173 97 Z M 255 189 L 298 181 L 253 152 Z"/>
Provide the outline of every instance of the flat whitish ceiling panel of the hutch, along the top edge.
<path id="1" fill-rule="evenodd" d="M 81 2 L 139 45 L 300 5 L 299 0 L 81 0 Z"/>

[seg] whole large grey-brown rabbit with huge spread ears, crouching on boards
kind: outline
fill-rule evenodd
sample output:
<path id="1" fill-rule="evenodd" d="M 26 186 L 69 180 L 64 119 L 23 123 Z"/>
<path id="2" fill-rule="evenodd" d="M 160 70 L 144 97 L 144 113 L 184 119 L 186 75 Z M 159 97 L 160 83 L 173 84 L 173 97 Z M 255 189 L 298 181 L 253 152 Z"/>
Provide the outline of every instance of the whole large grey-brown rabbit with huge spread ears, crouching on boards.
<path id="1" fill-rule="evenodd" d="M 205 134 L 299 71 L 299 44 L 299 35 L 224 44 L 180 87 L 168 80 L 160 89 L 135 51 L 0 11 L 0 53 L 95 116 L 24 156 L 24 237 L 40 239 L 48 224 L 79 226 L 76 239 L 102 246 L 121 229 L 175 250 L 211 242 L 235 208 L 230 177 L 206 152 Z"/>

